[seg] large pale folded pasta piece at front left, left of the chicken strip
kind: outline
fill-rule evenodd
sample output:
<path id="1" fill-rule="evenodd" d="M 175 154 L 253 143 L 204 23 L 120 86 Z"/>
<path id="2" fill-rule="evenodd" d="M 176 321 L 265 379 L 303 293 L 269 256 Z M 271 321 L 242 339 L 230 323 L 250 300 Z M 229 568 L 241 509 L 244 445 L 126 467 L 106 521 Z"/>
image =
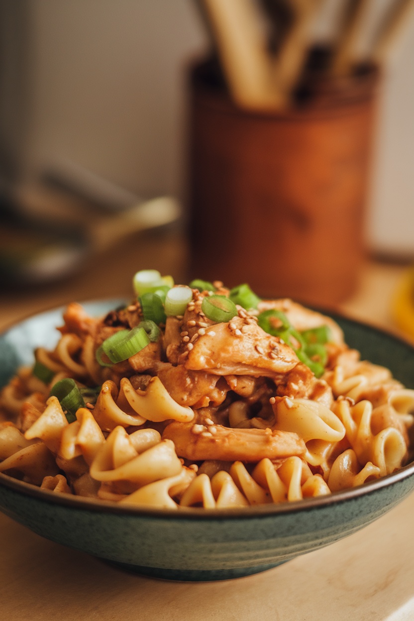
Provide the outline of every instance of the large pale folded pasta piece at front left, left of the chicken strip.
<path id="1" fill-rule="evenodd" d="M 92 461 L 97 481 L 130 481 L 143 486 L 181 472 L 181 461 L 171 440 L 161 440 L 138 455 L 124 427 L 115 427 Z"/>

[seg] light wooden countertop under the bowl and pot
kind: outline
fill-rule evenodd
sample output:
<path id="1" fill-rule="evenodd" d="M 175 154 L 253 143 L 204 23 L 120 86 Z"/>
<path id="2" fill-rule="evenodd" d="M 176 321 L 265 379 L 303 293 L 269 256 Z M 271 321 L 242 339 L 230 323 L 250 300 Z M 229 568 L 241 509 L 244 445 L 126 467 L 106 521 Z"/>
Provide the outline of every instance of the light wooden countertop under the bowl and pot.
<path id="1" fill-rule="evenodd" d="M 34 312 L 97 297 L 130 296 L 140 268 L 185 278 L 179 232 L 152 233 L 95 257 L 44 289 L 0 292 L 0 328 Z M 389 301 L 401 266 L 367 262 L 348 314 L 393 327 Z M 0 514 L 4 621 L 399 621 L 414 619 L 414 496 L 374 524 L 263 574 L 210 583 L 166 582 L 115 569 L 49 542 Z"/>

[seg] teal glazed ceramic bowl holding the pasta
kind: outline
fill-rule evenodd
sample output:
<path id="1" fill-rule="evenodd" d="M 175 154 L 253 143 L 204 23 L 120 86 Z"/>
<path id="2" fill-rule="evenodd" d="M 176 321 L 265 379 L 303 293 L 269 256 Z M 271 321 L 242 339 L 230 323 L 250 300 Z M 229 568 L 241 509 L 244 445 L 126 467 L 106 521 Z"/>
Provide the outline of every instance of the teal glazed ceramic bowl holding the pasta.
<path id="1" fill-rule="evenodd" d="M 88 302 L 101 315 L 119 301 Z M 53 347 L 62 309 L 0 336 L 0 386 L 39 345 Z M 332 315 L 362 358 L 414 388 L 414 348 L 389 333 Z M 370 524 L 414 489 L 414 463 L 363 486 L 299 502 L 243 509 L 139 509 L 47 490 L 0 474 L 0 510 L 38 535 L 156 578 L 209 581 L 258 573 Z"/>

